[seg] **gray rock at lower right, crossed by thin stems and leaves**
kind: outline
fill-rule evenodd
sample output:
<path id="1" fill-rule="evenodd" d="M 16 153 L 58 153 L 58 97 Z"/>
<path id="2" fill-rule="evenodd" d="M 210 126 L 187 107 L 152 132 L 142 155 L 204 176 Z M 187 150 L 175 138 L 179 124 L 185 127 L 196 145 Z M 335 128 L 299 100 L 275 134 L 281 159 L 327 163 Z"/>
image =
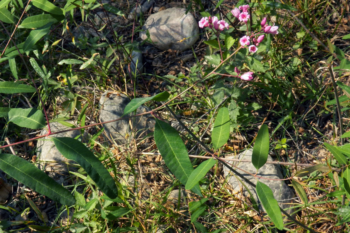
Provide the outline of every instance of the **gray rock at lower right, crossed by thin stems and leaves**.
<path id="1" fill-rule="evenodd" d="M 244 151 L 243 153 L 240 153 L 238 156 L 226 156 L 226 158 L 237 158 L 240 160 L 251 160 L 252 159 L 252 152 L 253 152 L 252 149 L 248 149 L 248 150 Z M 272 158 L 270 156 L 268 156 L 267 161 L 272 161 Z M 232 161 L 228 161 L 228 162 L 231 163 Z M 234 162 L 234 165 L 247 171 L 247 172 L 250 172 L 252 174 L 255 174 L 257 171 L 257 169 L 253 166 L 252 163 Z M 286 208 L 293 206 L 293 205 L 290 205 L 287 203 L 293 202 L 292 198 L 295 197 L 295 194 L 294 194 L 293 190 L 285 182 L 262 179 L 262 178 L 255 178 L 252 175 L 246 174 L 245 172 L 240 171 L 238 169 L 236 169 L 236 171 L 238 171 L 242 176 L 247 178 L 253 184 L 257 184 L 257 180 L 258 180 L 259 182 L 262 182 L 262 183 L 266 184 L 267 186 L 269 186 L 269 188 L 273 192 L 274 198 L 277 200 L 278 204 L 283 209 L 286 209 Z M 232 172 L 228 168 L 226 168 L 225 166 L 224 166 L 224 174 L 225 174 L 225 177 L 230 176 L 230 178 L 228 179 L 228 182 L 232 185 L 232 188 L 235 192 L 241 193 L 241 190 L 243 190 L 243 195 L 248 196 L 249 192 L 244 187 L 244 185 L 246 185 L 248 190 L 251 192 L 254 200 L 255 201 L 258 200 L 258 196 L 257 196 L 255 188 L 253 188 L 250 184 L 246 183 L 245 181 L 243 181 L 244 185 L 242 185 L 241 178 L 240 177 L 236 178 L 236 176 L 231 175 Z M 267 163 L 258 170 L 257 176 L 261 176 L 264 178 L 270 178 L 270 179 L 284 179 L 284 177 L 281 174 L 280 169 L 276 165 L 267 164 Z M 258 203 L 260 203 L 260 201 L 258 201 Z M 260 205 L 260 204 L 259 204 L 259 209 L 265 211 L 264 207 L 262 207 L 262 205 Z M 289 209 L 286 211 L 287 211 L 287 213 L 291 214 L 294 212 L 294 209 Z"/>

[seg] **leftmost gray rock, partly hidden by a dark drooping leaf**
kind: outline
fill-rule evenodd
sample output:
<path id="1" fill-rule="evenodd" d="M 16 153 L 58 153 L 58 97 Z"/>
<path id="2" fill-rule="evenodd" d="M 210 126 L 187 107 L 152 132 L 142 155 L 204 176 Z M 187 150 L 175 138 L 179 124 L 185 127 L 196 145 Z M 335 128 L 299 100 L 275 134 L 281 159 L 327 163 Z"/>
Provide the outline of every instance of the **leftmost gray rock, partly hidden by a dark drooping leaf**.
<path id="1" fill-rule="evenodd" d="M 73 124 L 73 121 L 67 121 Z M 47 127 L 47 126 L 46 126 Z M 50 123 L 51 132 L 58 132 L 71 127 L 64 126 L 58 122 Z M 47 130 L 43 129 L 40 135 L 47 134 Z M 50 137 L 71 137 L 75 138 L 80 135 L 80 130 L 68 131 L 65 133 L 59 133 L 51 135 Z M 57 182 L 64 182 L 64 176 L 68 175 L 70 169 L 73 167 L 70 164 L 75 164 L 74 161 L 66 159 L 56 148 L 54 142 L 47 137 L 43 137 L 37 142 L 37 161 L 38 168 L 44 171 L 49 171 L 49 175 L 54 178 Z"/>

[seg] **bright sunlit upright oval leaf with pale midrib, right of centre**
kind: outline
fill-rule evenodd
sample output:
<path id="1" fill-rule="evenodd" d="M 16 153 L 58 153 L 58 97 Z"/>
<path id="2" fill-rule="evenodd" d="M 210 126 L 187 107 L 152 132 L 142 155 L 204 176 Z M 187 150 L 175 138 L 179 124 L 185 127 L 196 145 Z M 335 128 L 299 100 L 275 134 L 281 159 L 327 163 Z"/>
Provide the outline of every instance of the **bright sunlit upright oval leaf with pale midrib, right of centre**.
<path id="1" fill-rule="evenodd" d="M 215 150 L 222 147 L 230 136 L 230 116 L 226 107 L 220 108 L 214 122 L 213 132 L 211 133 L 211 142 Z"/>

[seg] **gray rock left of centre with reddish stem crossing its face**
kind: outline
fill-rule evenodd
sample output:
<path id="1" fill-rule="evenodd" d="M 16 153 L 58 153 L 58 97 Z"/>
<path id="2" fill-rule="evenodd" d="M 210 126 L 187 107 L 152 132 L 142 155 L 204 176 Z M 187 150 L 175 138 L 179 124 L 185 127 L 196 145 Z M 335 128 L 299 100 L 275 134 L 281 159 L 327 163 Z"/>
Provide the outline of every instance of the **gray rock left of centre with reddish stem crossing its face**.
<path id="1" fill-rule="evenodd" d="M 124 108 L 128 103 L 130 103 L 130 99 L 125 94 L 120 94 L 117 92 L 107 90 L 105 93 L 103 93 L 99 101 L 99 105 L 101 107 L 99 117 L 100 122 L 120 118 L 123 115 Z M 150 111 L 149 108 L 145 106 L 140 106 L 137 108 L 136 114 L 148 111 Z M 133 115 L 133 113 L 131 114 Z M 128 115 L 126 115 L 125 117 L 127 116 Z M 153 119 L 151 114 L 105 123 L 103 124 L 103 127 L 105 127 L 104 132 L 111 142 L 116 140 L 122 143 L 128 143 L 133 139 L 129 120 L 131 120 L 132 129 L 133 132 L 135 132 L 136 137 L 144 137 L 148 133 L 151 133 L 155 125 L 155 120 Z"/>

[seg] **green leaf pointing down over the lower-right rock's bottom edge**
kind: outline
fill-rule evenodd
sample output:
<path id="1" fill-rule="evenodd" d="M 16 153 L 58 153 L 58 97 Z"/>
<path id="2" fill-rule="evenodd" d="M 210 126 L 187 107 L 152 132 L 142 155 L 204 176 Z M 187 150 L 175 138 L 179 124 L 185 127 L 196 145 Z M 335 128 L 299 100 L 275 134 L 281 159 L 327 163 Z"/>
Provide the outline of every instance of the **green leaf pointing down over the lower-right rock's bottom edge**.
<path id="1" fill-rule="evenodd" d="M 266 213 L 278 230 L 283 229 L 283 219 L 280 207 L 273 196 L 271 189 L 264 183 L 257 182 L 257 194 Z"/>

